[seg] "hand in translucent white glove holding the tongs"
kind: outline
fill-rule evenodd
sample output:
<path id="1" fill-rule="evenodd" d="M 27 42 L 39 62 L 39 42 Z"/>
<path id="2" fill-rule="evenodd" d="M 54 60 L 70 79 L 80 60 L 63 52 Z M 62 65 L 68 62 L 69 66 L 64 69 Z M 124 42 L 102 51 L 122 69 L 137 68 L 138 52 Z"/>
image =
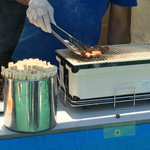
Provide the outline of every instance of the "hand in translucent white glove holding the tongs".
<path id="1" fill-rule="evenodd" d="M 56 24 L 54 9 L 47 0 L 30 0 L 27 17 L 32 24 L 49 33 L 51 33 L 50 22 Z"/>

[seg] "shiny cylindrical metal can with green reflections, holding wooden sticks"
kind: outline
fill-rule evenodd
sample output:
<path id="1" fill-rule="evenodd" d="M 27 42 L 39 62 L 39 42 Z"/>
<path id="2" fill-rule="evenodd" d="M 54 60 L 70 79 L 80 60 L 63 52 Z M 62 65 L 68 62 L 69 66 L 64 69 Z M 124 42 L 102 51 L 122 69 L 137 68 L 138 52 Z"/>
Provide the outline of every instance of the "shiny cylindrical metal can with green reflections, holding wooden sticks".
<path id="1" fill-rule="evenodd" d="M 11 130 L 38 132 L 56 125 L 57 75 L 35 81 L 4 77 L 4 124 Z"/>

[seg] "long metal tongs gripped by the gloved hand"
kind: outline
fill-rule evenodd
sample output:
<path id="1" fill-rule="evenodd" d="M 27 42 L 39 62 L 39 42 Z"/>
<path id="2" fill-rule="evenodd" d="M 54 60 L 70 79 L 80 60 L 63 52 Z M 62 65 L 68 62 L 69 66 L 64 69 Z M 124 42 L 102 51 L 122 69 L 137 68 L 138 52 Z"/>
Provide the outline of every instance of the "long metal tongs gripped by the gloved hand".
<path id="1" fill-rule="evenodd" d="M 54 25 L 52 23 L 51 23 L 51 26 L 56 28 L 57 30 L 61 31 L 61 33 L 63 33 L 69 39 L 69 41 L 63 39 L 61 36 L 59 36 L 53 30 L 51 32 L 58 40 L 60 40 L 66 47 L 68 47 L 75 54 L 81 55 L 80 50 L 86 50 L 85 45 L 83 43 L 81 43 L 80 41 L 78 41 L 77 39 L 75 39 L 69 33 L 67 33 L 66 31 L 64 31 L 63 29 L 61 29 L 60 27 L 58 27 L 57 25 Z"/>

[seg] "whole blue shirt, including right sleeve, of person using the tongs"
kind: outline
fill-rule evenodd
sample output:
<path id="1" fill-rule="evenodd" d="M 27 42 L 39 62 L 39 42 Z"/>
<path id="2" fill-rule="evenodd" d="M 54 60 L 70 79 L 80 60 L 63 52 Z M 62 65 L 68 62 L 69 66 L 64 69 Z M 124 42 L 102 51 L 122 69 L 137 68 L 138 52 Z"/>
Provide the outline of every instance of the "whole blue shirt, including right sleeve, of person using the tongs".
<path id="1" fill-rule="evenodd" d="M 112 0 L 134 6 L 136 0 Z M 131 1 L 132 5 L 131 5 Z M 96 45 L 101 30 L 101 19 L 108 9 L 109 0 L 49 0 L 55 10 L 58 26 L 85 45 Z M 12 56 L 14 61 L 24 58 L 40 58 L 57 65 L 55 50 L 65 48 L 53 35 L 43 32 L 26 19 L 21 38 Z"/>

